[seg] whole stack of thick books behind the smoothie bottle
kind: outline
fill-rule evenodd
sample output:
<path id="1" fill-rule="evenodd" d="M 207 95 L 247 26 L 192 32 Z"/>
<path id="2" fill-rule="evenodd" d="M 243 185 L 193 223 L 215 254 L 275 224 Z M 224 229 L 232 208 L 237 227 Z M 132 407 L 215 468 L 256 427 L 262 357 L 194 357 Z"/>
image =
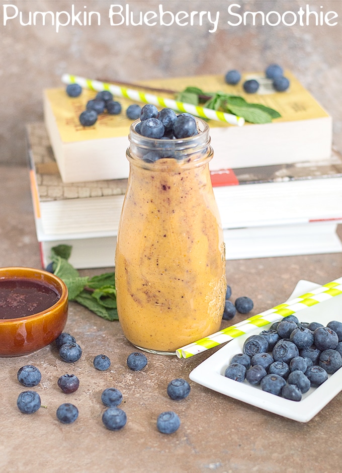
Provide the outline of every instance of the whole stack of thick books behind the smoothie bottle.
<path id="1" fill-rule="evenodd" d="M 234 127 L 209 122 L 215 153 L 211 178 L 227 259 L 342 251 L 336 235 L 337 223 L 342 222 L 342 157 L 332 151 L 331 117 L 293 81 L 293 92 L 253 96 L 255 102 L 282 114 L 271 124 Z M 155 86 L 224 88 L 216 76 L 165 82 Z M 131 121 L 123 112 L 122 116 L 106 115 L 92 129 L 80 127 L 78 115 L 85 107 L 80 101 L 94 95 L 83 91 L 82 98 L 70 99 L 64 89 L 44 91 L 45 123 L 27 126 L 43 267 L 49 263 L 51 247 L 59 244 L 72 246 L 70 263 L 78 269 L 114 266 Z M 270 96 L 282 105 L 277 108 Z M 286 115 L 286 104 L 291 118 Z M 113 135 L 100 137 L 108 129 Z M 109 161 L 112 166 L 106 165 Z"/>

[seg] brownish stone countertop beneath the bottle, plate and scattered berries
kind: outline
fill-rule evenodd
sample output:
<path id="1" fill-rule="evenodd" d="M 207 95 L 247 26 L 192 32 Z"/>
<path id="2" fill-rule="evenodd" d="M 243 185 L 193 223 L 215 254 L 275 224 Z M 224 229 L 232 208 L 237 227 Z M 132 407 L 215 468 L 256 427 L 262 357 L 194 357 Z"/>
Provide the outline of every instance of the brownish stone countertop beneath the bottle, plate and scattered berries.
<path id="1" fill-rule="evenodd" d="M 40 268 L 28 170 L 0 167 L 0 181 L 0 266 Z M 338 233 L 341 237 L 340 227 Z M 83 270 L 82 274 L 103 271 Z M 324 284 L 341 275 L 341 254 L 227 262 L 233 298 L 251 297 L 252 314 L 286 300 L 300 279 Z M 236 316 L 234 322 L 242 318 L 245 316 Z M 126 359 L 135 349 L 125 340 L 118 322 L 107 322 L 71 302 L 65 331 L 73 334 L 83 349 L 76 363 L 62 362 L 53 346 L 27 356 L 1 359 L 1 471 L 339 470 L 342 393 L 307 424 L 249 406 L 192 381 L 190 396 L 176 402 L 166 394 L 168 382 L 176 377 L 189 379 L 190 371 L 213 350 L 187 360 L 147 355 L 147 367 L 133 372 L 127 368 Z M 108 371 L 93 367 L 94 356 L 100 353 L 111 358 Z M 25 364 L 36 365 L 42 373 L 36 390 L 47 408 L 33 415 L 21 414 L 16 406 L 19 392 L 26 389 L 18 383 L 17 371 Z M 57 386 L 58 377 L 65 373 L 80 379 L 79 389 L 71 395 Z M 106 387 L 117 387 L 123 393 L 120 407 L 128 421 L 118 432 L 102 424 L 105 408 L 101 392 Z M 74 424 L 57 421 L 56 409 L 63 402 L 78 407 Z M 173 435 L 160 434 L 155 425 L 158 414 L 167 410 L 177 412 L 182 422 Z"/>

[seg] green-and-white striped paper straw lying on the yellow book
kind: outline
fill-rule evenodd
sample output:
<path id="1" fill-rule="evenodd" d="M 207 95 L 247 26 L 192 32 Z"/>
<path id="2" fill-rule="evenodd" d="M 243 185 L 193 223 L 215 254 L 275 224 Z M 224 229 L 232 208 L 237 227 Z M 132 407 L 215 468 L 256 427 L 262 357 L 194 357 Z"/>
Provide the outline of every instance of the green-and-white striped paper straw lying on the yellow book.
<path id="1" fill-rule="evenodd" d="M 160 97 L 153 94 L 148 94 L 134 89 L 128 89 L 126 87 L 117 86 L 114 84 L 108 84 L 106 82 L 95 81 L 87 79 L 85 77 L 79 77 L 78 75 L 63 74 L 61 81 L 64 84 L 79 84 L 84 89 L 90 89 L 97 92 L 107 90 L 113 95 L 119 97 L 125 97 L 138 102 L 144 102 L 147 104 L 153 104 L 164 108 L 172 108 L 180 112 L 188 112 L 192 115 L 201 118 L 209 118 L 210 120 L 222 121 L 229 123 L 230 125 L 242 126 L 244 124 L 244 118 L 238 117 L 231 113 L 219 112 L 209 108 L 199 107 L 193 104 L 187 104 L 184 102 L 178 102 L 173 99 L 166 97 Z"/>

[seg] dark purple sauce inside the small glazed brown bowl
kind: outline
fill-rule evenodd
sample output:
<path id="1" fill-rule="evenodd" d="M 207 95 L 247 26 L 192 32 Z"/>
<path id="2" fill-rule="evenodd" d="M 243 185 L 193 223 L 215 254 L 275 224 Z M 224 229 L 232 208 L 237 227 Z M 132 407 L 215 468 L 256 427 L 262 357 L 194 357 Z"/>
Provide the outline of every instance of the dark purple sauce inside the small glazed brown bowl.
<path id="1" fill-rule="evenodd" d="M 56 289 L 33 279 L 0 279 L 0 319 L 32 316 L 54 305 Z"/>

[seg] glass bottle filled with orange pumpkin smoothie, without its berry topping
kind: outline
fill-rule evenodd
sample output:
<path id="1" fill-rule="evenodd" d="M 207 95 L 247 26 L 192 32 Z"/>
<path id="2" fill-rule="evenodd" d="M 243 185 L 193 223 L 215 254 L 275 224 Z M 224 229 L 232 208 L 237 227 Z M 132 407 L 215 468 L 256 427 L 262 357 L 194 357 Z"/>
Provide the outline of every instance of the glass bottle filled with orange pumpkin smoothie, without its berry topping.
<path id="1" fill-rule="evenodd" d="M 198 126 L 196 136 L 166 145 L 138 135 L 134 124 L 130 131 L 117 307 L 126 338 L 147 351 L 174 354 L 217 332 L 222 321 L 223 232 L 210 181 L 209 127 L 200 119 Z M 144 160 L 151 149 L 161 156 L 155 162 Z"/>

